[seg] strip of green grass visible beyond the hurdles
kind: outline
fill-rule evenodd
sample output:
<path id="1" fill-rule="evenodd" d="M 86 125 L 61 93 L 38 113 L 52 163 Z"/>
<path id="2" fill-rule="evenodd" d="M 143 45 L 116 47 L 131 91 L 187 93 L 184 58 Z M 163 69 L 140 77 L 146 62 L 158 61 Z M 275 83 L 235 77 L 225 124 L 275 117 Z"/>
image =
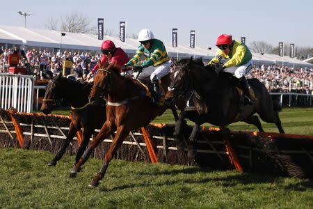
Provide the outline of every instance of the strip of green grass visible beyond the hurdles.
<path id="1" fill-rule="evenodd" d="M 68 115 L 69 111 L 64 109 L 58 109 L 53 111 L 53 114 L 65 114 Z M 310 108 L 284 108 L 280 111 L 280 120 L 282 121 L 282 127 L 288 134 L 305 134 L 313 135 L 313 107 Z M 278 128 L 273 123 L 266 123 L 260 119 L 262 127 L 266 132 L 277 132 Z M 168 109 L 162 116 L 159 116 L 152 121 L 152 123 L 168 123 L 174 124 L 175 120 L 172 116 L 172 111 Z M 189 125 L 194 123 L 188 121 Z M 208 123 L 205 126 L 213 126 Z M 213 126 L 214 127 L 214 126 Z M 228 126 L 230 130 L 246 130 L 246 131 L 257 131 L 257 127 L 249 125 L 244 122 L 232 123 Z"/>

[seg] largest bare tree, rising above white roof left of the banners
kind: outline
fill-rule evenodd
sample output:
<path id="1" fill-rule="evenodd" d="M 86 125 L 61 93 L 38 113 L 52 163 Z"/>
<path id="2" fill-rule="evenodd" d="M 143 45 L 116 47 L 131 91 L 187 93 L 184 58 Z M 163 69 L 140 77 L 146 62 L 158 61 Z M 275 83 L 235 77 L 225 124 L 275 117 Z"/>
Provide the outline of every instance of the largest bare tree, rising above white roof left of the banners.
<path id="1" fill-rule="evenodd" d="M 72 12 L 61 17 L 61 31 L 71 33 L 88 33 L 93 29 L 90 27 L 91 20 L 83 13 Z"/>

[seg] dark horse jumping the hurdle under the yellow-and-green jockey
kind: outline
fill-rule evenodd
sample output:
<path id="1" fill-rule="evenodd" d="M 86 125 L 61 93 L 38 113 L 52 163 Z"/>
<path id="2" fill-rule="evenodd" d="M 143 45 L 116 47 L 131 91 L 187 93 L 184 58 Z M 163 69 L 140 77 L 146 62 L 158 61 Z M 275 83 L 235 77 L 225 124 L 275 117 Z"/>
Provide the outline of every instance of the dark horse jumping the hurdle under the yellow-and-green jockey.
<path id="1" fill-rule="evenodd" d="M 248 79 L 255 92 L 253 105 L 243 106 L 243 97 L 239 95 L 235 80 L 227 72 L 216 74 L 213 67 L 203 65 L 202 61 L 195 62 L 193 59 L 182 59 L 174 65 L 169 91 L 166 93 L 166 104 L 173 105 L 177 98 L 182 95 L 194 93 L 193 102 L 195 110 L 182 111 L 175 125 L 177 140 L 182 136 L 182 125 L 186 123 L 184 118 L 195 122 L 189 141 L 195 141 L 198 137 L 199 126 L 203 123 L 211 123 L 225 127 L 236 121 L 244 121 L 255 125 L 260 132 L 264 132 L 257 113 L 263 121 L 275 123 L 280 133 L 284 133 L 278 111 L 278 101 L 272 100 L 266 87 L 258 79 Z"/>

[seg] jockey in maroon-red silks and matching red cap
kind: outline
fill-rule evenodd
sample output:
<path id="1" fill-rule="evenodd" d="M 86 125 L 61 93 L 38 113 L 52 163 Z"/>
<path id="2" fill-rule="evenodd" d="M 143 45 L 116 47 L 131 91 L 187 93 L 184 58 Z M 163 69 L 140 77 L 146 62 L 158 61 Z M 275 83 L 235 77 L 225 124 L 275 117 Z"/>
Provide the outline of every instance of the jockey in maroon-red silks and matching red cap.
<path id="1" fill-rule="evenodd" d="M 122 72 L 122 68 L 124 67 L 125 63 L 129 61 L 129 57 L 124 52 L 124 50 L 120 47 L 115 47 L 111 40 L 104 40 L 104 42 L 102 42 L 101 51 L 103 53 L 100 60 L 102 65 L 108 62 L 109 65 L 113 65 L 114 67 L 119 68 L 120 72 Z M 95 67 L 88 73 L 87 79 L 89 79 L 91 75 L 97 72 L 98 69 L 99 65 L 95 65 Z"/>

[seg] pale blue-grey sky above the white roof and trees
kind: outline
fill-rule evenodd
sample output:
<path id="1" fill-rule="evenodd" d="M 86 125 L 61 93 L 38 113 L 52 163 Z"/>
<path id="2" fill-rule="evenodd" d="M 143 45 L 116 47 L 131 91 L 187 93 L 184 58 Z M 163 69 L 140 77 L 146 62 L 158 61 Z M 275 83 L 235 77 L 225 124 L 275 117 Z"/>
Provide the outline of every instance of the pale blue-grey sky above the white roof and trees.
<path id="1" fill-rule="evenodd" d="M 147 28 L 163 42 L 172 41 L 172 28 L 178 28 L 178 44 L 188 45 L 190 30 L 196 30 L 196 45 L 215 45 L 221 33 L 229 33 L 246 42 L 278 42 L 313 46 L 313 1 L 131 1 L 131 0 L 54 0 L 1 1 L 1 25 L 24 26 L 17 11 L 32 12 L 26 27 L 46 29 L 49 17 L 61 20 L 69 12 L 83 13 L 97 26 L 97 18 L 105 19 L 104 27 L 114 33 L 119 22 L 126 21 L 126 33 Z"/>

